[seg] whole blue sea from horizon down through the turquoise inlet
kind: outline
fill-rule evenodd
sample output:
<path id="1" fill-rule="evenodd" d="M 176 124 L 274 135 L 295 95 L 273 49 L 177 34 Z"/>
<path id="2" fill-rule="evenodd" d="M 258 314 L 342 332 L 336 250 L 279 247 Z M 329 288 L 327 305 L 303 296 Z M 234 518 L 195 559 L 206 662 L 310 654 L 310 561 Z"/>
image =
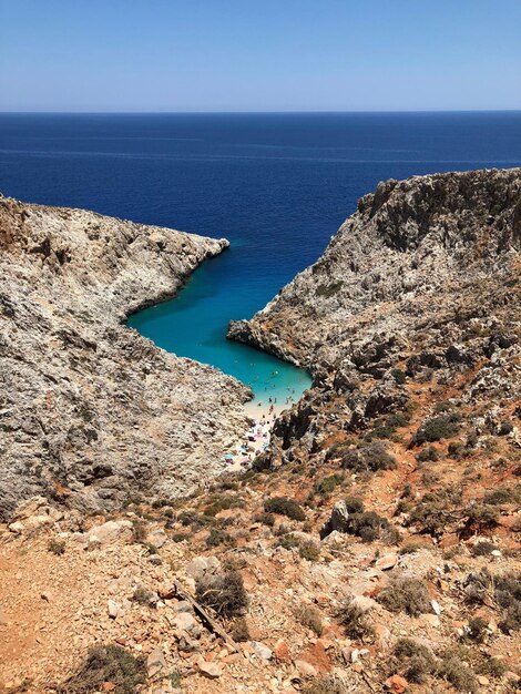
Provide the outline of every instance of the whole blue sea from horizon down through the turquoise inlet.
<path id="1" fill-rule="evenodd" d="M 265 389 L 303 371 L 225 339 L 317 259 L 381 180 L 521 165 L 521 112 L 0 114 L 0 192 L 208 236 L 232 248 L 130 325 Z"/>

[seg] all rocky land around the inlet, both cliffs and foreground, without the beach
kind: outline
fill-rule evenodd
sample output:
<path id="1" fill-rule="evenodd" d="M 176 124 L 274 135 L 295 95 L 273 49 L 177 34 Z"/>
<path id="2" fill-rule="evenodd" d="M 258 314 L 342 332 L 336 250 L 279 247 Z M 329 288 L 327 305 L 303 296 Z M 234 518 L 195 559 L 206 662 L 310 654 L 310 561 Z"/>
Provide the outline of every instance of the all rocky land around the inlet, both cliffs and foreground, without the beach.
<path id="1" fill-rule="evenodd" d="M 242 390 L 120 320 L 217 242 L 4 201 L 11 481 L 88 508 L 127 479 L 153 493 L 88 517 L 35 498 L 0 523 L 0 691 L 520 692 L 520 196 L 517 170 L 364 197 L 232 326 L 314 386 L 254 470 L 178 499 L 155 498 L 160 465 L 187 474 L 186 445 L 196 469 Z"/>

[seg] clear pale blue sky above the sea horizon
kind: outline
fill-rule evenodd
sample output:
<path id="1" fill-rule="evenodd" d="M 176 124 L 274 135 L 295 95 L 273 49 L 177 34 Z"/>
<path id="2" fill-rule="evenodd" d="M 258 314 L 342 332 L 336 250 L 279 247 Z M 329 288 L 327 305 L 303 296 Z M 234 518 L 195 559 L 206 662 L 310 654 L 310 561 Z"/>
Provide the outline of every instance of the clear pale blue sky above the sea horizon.
<path id="1" fill-rule="evenodd" d="M 0 111 L 521 109 L 521 0 L 0 0 Z"/>

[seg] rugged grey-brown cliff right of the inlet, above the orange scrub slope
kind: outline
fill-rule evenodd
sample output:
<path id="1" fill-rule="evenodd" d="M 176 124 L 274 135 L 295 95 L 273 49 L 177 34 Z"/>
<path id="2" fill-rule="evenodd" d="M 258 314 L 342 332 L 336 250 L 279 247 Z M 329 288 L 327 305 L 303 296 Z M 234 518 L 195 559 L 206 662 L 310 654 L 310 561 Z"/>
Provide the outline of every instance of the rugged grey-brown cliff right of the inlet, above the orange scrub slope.
<path id="1" fill-rule="evenodd" d="M 519 169 L 391 180 L 364 196 L 315 265 L 229 326 L 315 376 L 276 425 L 279 452 L 317 451 L 328 432 L 402 408 L 406 377 L 448 382 L 479 365 L 464 397 L 513 399 L 520 246 Z"/>

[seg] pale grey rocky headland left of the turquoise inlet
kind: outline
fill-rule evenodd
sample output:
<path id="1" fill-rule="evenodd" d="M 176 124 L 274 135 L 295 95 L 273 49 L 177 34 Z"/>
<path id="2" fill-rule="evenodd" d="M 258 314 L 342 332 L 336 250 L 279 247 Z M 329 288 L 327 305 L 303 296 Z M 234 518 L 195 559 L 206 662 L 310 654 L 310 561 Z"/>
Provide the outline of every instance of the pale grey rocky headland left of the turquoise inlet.
<path id="1" fill-rule="evenodd" d="M 221 470 L 247 390 L 123 325 L 216 241 L 0 197 L 0 516 L 175 496 Z"/>

